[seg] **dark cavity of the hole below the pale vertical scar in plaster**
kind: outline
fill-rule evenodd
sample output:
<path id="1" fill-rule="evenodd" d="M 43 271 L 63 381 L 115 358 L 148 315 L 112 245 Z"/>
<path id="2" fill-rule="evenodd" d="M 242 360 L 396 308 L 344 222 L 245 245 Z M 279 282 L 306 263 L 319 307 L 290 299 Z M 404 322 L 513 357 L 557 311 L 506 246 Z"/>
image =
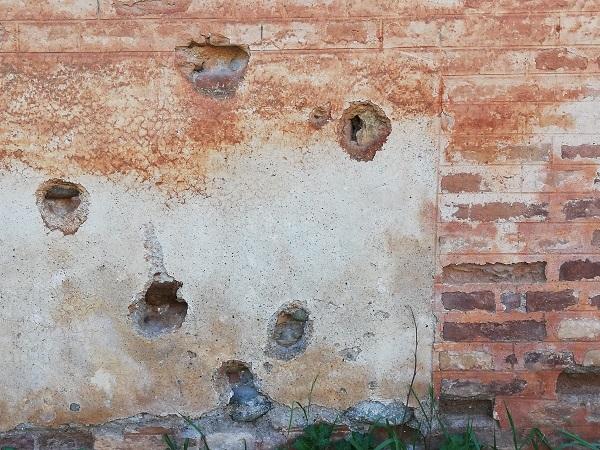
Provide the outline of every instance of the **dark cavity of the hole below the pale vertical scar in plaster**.
<path id="1" fill-rule="evenodd" d="M 144 296 L 145 308 L 140 326 L 149 333 L 180 328 L 187 314 L 187 303 L 177 297 L 179 281 L 154 281 Z"/>

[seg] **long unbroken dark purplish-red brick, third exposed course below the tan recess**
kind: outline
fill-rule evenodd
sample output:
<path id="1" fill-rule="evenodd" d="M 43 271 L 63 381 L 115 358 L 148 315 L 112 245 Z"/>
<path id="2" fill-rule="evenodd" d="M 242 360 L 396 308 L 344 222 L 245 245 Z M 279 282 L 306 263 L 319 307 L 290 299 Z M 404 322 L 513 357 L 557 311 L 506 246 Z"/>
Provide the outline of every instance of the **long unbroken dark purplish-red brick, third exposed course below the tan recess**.
<path id="1" fill-rule="evenodd" d="M 537 320 L 506 322 L 446 322 L 443 337 L 448 341 L 541 341 L 546 337 L 546 324 Z"/>

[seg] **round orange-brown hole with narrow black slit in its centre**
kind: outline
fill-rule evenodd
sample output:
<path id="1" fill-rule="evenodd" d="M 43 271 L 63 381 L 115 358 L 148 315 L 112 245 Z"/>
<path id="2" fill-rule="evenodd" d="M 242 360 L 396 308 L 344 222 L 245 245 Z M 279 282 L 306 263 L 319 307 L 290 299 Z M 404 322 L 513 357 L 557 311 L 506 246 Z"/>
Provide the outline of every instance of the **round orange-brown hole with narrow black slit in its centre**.
<path id="1" fill-rule="evenodd" d="M 370 102 L 354 102 L 342 114 L 340 145 L 357 161 L 372 161 L 392 131 L 383 110 Z"/>

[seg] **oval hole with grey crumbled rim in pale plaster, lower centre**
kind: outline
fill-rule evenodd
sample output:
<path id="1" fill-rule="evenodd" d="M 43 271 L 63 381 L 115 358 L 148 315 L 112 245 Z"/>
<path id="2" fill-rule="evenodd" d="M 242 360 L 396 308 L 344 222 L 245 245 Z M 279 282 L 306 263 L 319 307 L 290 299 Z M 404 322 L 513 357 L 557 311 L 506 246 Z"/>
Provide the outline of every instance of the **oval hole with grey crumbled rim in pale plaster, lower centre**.
<path id="1" fill-rule="evenodd" d="M 286 305 L 271 318 L 266 352 L 290 360 L 306 350 L 311 332 L 312 321 L 306 309 L 297 303 Z"/>

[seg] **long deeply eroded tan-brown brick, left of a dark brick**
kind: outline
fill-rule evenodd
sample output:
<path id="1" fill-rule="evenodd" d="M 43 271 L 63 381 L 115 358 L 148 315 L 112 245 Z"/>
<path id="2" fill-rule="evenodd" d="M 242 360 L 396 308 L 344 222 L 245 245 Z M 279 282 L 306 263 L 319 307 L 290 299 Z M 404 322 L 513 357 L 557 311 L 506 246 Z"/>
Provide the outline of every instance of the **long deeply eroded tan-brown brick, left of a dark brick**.
<path id="1" fill-rule="evenodd" d="M 445 283 L 539 283 L 546 281 L 546 262 L 531 263 L 461 263 L 442 269 Z"/>

